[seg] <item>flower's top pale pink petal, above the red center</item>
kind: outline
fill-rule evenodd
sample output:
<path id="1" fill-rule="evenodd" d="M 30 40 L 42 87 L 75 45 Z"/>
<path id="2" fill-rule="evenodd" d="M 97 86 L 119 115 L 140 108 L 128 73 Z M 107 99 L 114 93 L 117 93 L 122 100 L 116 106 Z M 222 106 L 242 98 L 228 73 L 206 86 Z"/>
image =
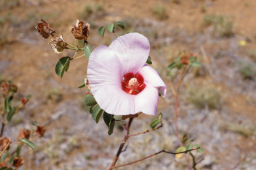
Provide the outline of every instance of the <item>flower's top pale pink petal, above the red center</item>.
<path id="1" fill-rule="evenodd" d="M 123 73 L 141 70 L 149 56 L 149 40 L 139 33 L 129 33 L 115 39 L 109 46 L 123 64 Z"/>

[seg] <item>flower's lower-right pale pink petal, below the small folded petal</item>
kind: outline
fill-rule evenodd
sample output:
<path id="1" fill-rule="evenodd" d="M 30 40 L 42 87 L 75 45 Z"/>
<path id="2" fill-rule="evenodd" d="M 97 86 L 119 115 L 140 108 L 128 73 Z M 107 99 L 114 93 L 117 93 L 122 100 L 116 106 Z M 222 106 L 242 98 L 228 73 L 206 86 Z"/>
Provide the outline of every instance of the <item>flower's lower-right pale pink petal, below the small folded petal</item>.
<path id="1" fill-rule="evenodd" d="M 157 115 L 158 88 L 146 86 L 142 92 L 135 97 L 135 112 L 144 114 Z"/>

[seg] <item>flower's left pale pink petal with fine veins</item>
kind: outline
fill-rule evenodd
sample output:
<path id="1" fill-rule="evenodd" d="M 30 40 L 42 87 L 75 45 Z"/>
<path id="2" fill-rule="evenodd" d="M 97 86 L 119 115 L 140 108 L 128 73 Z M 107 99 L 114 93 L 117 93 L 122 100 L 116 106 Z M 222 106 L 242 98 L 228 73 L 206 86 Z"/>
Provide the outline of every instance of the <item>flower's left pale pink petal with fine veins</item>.
<path id="1" fill-rule="evenodd" d="M 123 66 L 117 54 L 108 46 L 99 46 L 93 50 L 88 62 L 87 78 L 93 95 L 103 86 L 121 89 Z"/>

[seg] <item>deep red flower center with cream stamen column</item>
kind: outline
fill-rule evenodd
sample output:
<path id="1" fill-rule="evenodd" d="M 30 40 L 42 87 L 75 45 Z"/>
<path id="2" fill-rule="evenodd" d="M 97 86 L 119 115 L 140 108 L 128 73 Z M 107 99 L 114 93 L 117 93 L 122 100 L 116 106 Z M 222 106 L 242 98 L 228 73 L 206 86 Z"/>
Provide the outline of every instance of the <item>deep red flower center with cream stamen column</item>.
<path id="1" fill-rule="evenodd" d="M 121 83 L 123 91 L 132 95 L 139 94 L 146 87 L 144 78 L 139 73 L 135 75 L 132 72 L 125 74 Z"/>

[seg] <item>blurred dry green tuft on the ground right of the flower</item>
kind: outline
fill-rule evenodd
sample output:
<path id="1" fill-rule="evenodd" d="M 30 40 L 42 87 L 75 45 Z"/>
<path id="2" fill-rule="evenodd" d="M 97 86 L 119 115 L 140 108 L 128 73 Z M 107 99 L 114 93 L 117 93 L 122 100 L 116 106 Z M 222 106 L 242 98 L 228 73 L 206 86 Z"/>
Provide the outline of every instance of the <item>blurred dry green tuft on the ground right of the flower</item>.
<path id="1" fill-rule="evenodd" d="M 187 88 L 187 101 L 191 102 L 195 107 L 199 109 L 219 108 L 221 96 L 215 88 L 205 86 L 203 88 L 189 87 Z"/>

